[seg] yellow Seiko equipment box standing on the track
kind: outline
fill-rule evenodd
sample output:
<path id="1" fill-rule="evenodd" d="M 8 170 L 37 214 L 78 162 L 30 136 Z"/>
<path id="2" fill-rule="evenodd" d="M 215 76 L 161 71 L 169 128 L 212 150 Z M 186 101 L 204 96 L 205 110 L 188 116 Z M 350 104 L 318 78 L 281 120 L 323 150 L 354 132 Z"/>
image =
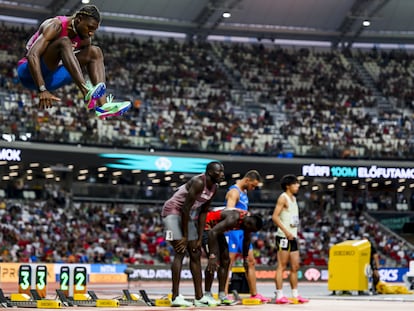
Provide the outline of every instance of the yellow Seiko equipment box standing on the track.
<path id="1" fill-rule="evenodd" d="M 329 250 L 328 289 L 330 291 L 368 290 L 371 244 L 368 240 L 349 240 Z"/>

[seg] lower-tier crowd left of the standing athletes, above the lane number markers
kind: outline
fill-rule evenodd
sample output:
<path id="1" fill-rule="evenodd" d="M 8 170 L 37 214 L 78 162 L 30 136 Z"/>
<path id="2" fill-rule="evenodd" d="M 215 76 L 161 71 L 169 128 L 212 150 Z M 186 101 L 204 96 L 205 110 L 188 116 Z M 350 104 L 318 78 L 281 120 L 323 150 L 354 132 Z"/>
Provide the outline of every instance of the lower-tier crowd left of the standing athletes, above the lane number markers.
<path id="1" fill-rule="evenodd" d="M 3 262 L 151 264 L 166 248 L 156 207 L 3 202 Z M 6 238 L 7 237 L 7 238 Z M 168 262 L 159 258 L 157 262 Z"/>

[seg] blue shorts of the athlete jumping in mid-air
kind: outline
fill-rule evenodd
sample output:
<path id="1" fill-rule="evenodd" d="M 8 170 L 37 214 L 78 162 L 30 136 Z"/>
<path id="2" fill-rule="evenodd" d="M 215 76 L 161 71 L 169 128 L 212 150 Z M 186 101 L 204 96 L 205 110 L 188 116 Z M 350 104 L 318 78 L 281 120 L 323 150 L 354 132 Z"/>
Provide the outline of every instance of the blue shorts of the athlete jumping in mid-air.
<path id="1" fill-rule="evenodd" d="M 46 89 L 49 91 L 54 91 L 64 85 L 73 82 L 69 71 L 63 65 L 52 71 L 47 68 L 43 60 L 41 60 L 40 68 L 42 69 L 42 75 L 43 79 L 45 80 Z M 20 82 L 24 87 L 31 90 L 37 90 L 38 86 L 34 82 L 32 74 L 30 73 L 28 61 L 25 61 L 17 66 L 17 74 L 19 76 Z"/>

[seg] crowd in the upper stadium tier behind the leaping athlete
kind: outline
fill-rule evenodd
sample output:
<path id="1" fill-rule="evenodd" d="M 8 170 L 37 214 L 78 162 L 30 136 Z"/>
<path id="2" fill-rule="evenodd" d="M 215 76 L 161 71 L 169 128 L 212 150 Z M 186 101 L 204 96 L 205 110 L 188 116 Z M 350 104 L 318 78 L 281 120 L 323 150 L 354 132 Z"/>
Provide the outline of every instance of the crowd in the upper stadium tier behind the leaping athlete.
<path id="1" fill-rule="evenodd" d="M 107 84 L 133 102 L 97 120 L 75 86 L 38 110 L 16 79 L 34 29 L 1 26 L 2 139 L 238 154 L 410 158 L 412 55 L 99 33 Z M 350 61 L 350 58 L 353 61 Z M 387 102 L 364 85 L 365 66 Z M 404 82 L 404 83 L 403 83 Z"/>

